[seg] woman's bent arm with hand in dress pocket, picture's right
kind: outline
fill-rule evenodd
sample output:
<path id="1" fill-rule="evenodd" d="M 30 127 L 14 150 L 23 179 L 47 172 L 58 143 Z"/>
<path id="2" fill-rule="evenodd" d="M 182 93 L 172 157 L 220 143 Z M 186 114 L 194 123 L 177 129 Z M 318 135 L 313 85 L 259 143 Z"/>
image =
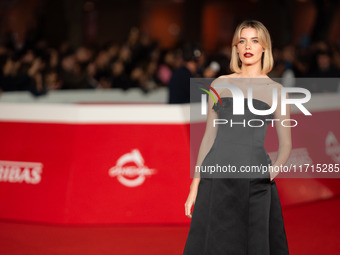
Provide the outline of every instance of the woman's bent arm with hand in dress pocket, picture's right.
<path id="1" fill-rule="evenodd" d="M 281 84 L 278 85 L 278 104 L 277 108 L 274 112 L 275 119 L 278 121 L 275 122 L 276 132 L 279 139 L 279 149 L 277 152 L 277 159 L 275 163 L 272 165 L 273 168 L 281 169 L 284 166 L 289 158 L 290 152 L 292 150 L 292 137 L 291 137 L 291 123 L 290 123 L 290 105 L 286 105 L 286 114 L 283 115 L 281 111 L 281 88 L 283 86 Z M 288 98 L 288 93 L 286 93 L 286 98 Z M 284 125 L 282 125 L 282 121 L 284 121 Z M 272 181 L 279 172 L 270 173 L 270 180 Z"/>

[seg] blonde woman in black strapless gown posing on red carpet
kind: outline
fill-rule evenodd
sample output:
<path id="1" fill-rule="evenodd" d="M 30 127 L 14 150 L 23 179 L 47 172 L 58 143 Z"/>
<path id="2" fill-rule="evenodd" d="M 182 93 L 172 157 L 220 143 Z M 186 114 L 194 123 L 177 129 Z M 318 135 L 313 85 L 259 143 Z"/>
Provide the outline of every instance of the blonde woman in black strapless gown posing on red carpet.
<path id="1" fill-rule="evenodd" d="M 285 121 L 286 126 L 280 123 L 290 119 L 290 109 L 287 107 L 286 114 L 281 114 L 282 85 L 267 76 L 273 68 L 272 47 L 269 32 L 261 22 L 246 20 L 238 25 L 232 41 L 230 68 L 234 73 L 220 76 L 211 84 L 221 102 L 216 105 L 209 98 L 206 130 L 196 166 L 204 169 L 216 164 L 232 165 L 239 170 L 242 166 L 284 165 L 292 147 L 291 130 L 287 127 L 289 121 Z M 217 86 L 220 84 L 235 86 L 243 92 L 244 115 L 233 114 L 234 95 L 229 89 Z M 247 94 L 249 91 L 251 93 Z M 275 91 L 277 93 L 273 94 Z M 251 95 L 255 109 L 276 107 L 275 111 L 254 114 L 249 102 L 247 104 Z M 264 125 L 214 127 L 214 119 L 231 119 L 238 123 L 260 119 Z M 275 122 L 279 149 L 274 164 L 263 145 L 268 119 L 279 119 Z M 199 177 L 193 179 L 185 203 L 185 214 L 191 218 L 191 225 L 184 255 L 288 255 L 274 179 L 277 174 L 267 171 L 264 176 L 251 174 L 247 178 L 232 178 L 223 175 L 221 178 L 221 175 L 201 171 Z"/>

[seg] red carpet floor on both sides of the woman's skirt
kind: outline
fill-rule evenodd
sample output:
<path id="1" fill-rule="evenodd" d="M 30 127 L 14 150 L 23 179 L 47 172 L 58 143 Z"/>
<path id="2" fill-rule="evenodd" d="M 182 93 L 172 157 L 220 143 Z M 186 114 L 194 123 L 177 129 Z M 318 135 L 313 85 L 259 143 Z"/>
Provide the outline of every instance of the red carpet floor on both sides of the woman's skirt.
<path id="1" fill-rule="evenodd" d="M 340 254 L 340 198 L 283 211 L 290 255 Z M 189 226 L 51 226 L 0 221 L 1 255 L 179 255 Z"/>

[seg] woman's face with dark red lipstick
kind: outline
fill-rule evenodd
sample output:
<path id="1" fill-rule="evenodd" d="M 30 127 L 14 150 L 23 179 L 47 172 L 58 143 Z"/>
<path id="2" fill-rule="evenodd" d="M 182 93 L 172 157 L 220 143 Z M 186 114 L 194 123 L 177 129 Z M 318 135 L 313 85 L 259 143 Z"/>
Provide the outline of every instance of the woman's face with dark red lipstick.
<path id="1" fill-rule="evenodd" d="M 255 28 L 243 28 L 237 44 L 237 52 L 243 65 L 261 64 L 264 48 L 259 43 Z"/>

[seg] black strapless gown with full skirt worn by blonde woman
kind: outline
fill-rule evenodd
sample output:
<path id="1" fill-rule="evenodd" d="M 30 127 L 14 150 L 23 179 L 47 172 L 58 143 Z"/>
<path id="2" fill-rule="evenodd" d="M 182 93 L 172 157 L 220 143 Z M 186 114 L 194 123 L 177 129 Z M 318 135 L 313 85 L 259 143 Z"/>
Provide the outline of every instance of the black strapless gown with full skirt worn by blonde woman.
<path id="1" fill-rule="evenodd" d="M 215 142 L 202 162 L 240 166 L 272 164 L 264 148 L 273 115 L 254 115 L 245 98 L 244 115 L 233 115 L 232 97 L 221 98 L 213 109 L 220 119 L 261 119 L 262 127 L 219 125 Z M 269 109 L 253 99 L 254 108 Z M 259 123 L 252 123 L 259 125 Z M 271 123 L 269 123 L 271 124 Z M 224 176 L 226 177 L 226 176 Z M 214 178 L 201 172 L 184 255 L 287 255 L 288 243 L 275 179 L 269 172 L 247 178 Z"/>

